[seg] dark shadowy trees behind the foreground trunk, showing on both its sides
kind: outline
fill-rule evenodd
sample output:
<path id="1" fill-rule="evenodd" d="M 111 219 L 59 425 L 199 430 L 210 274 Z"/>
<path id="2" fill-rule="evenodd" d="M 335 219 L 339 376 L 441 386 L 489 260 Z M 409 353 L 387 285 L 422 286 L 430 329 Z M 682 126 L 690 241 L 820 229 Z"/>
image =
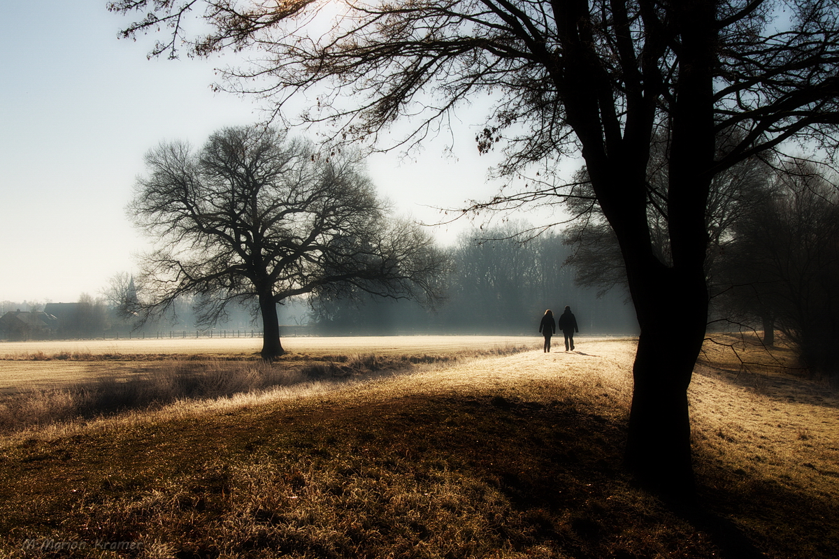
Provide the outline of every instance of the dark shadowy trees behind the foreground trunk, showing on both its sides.
<path id="1" fill-rule="evenodd" d="M 730 138 L 729 138 L 730 139 Z M 723 135 L 719 142 L 726 142 Z M 660 148 L 660 146 L 659 146 Z M 650 189 L 666 199 L 658 174 L 664 153 L 652 158 Z M 839 382 L 839 176 L 826 161 L 762 153 L 732 166 L 711 182 L 704 262 L 709 327 L 753 331 L 774 345 L 782 332 L 813 376 Z M 618 239 L 596 204 L 586 168 L 576 175 L 566 209 L 581 217 L 565 230 L 573 247 L 567 263 L 576 282 L 604 293 L 628 291 Z M 668 220 L 648 205 L 657 257 L 670 264 Z"/>

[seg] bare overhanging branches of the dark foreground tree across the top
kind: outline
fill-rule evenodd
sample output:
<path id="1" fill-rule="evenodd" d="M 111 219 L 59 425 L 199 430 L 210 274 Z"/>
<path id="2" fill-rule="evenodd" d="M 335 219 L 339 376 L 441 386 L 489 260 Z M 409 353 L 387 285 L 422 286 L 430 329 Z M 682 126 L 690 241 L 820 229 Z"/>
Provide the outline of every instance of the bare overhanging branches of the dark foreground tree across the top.
<path id="1" fill-rule="evenodd" d="M 108 9 L 145 16 L 124 37 L 168 30 L 151 55 L 255 49 L 263 54 L 258 62 L 225 70 L 228 87 L 278 109 L 311 91 L 316 97 L 303 116 L 336 120 L 353 138 L 410 117 L 419 141 L 458 102 L 497 91 L 487 120 L 495 127 L 482 132 L 482 146 L 518 125 L 524 134 L 503 137 L 521 146 L 510 151 L 515 161 L 576 155 L 595 139 L 581 136 L 583 128 L 598 143 L 638 134 L 649 144 L 651 125 L 670 130 L 665 115 L 682 101 L 679 85 L 692 70 L 687 57 L 713 47 L 701 54 L 712 57 L 705 61 L 713 77 L 703 95 L 717 132 L 743 132 L 717 167 L 802 135 L 834 146 L 834 2 L 682 4 L 120 0 Z M 643 119 L 633 116 L 636 106 Z M 589 111 L 601 113 L 592 122 L 599 132 L 581 127 Z"/>

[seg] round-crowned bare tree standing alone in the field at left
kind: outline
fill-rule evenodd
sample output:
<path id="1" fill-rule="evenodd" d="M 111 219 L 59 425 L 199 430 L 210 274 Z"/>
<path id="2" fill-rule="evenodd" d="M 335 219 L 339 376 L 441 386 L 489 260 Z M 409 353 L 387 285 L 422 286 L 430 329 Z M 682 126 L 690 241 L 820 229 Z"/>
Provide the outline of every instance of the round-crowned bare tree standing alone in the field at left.
<path id="1" fill-rule="evenodd" d="M 195 294 L 202 324 L 255 301 L 265 360 L 283 354 L 277 304 L 311 292 L 435 298 L 444 266 L 430 236 L 388 215 L 359 164 L 262 127 L 226 128 L 195 152 L 146 156 L 128 207 L 158 242 L 139 277 L 144 317 Z"/>

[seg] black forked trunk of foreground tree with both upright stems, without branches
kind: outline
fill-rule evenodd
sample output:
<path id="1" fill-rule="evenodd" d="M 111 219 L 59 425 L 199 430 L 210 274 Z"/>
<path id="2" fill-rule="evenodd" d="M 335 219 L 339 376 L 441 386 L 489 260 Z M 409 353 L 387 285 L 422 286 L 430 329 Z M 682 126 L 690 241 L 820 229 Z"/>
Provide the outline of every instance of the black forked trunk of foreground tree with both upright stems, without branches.
<path id="1" fill-rule="evenodd" d="M 614 111 L 609 70 L 599 65 L 586 26 L 580 25 L 581 19 L 590 17 L 588 3 L 555 4 L 565 62 L 563 74 L 556 78 L 557 88 L 568 123 L 581 142 L 597 201 L 621 246 L 641 327 L 633 366 L 626 466 L 649 489 L 693 499 L 687 388 L 707 324 L 703 264 L 715 156 L 717 3 L 664 3 L 674 14 L 680 35 L 676 101 L 670 106 L 666 197 L 672 264 L 656 256 L 647 221 L 651 198 L 647 163 L 654 103 L 661 92 L 655 90 L 655 80 L 630 79 L 627 104 Z M 622 111 L 625 118 L 618 118 Z"/>

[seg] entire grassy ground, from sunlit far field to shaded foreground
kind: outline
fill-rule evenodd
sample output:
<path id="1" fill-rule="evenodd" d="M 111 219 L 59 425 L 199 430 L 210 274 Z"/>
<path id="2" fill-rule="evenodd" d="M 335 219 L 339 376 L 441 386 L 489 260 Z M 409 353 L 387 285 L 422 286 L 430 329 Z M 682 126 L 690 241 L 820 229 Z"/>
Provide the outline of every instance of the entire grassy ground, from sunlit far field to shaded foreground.
<path id="1" fill-rule="evenodd" d="M 839 556 L 839 399 L 783 347 L 706 343 L 687 509 L 621 469 L 633 339 L 200 341 L 0 345 L 0 557 Z"/>

